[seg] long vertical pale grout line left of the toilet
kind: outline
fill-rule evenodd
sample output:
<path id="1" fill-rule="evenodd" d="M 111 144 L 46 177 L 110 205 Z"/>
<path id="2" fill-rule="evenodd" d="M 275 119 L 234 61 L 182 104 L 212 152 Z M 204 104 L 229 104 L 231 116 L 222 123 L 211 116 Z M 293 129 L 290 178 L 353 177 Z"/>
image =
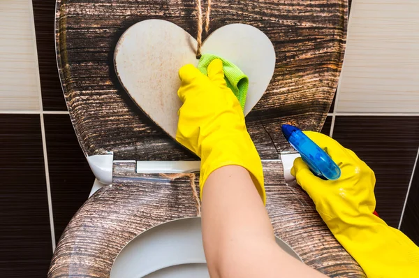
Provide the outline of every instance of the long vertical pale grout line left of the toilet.
<path id="1" fill-rule="evenodd" d="M 31 20 L 32 20 L 32 33 L 34 35 L 34 52 L 36 55 L 36 79 L 38 80 L 38 101 L 39 101 L 39 119 L 41 121 L 41 137 L 42 137 L 42 148 L 43 148 L 43 159 L 44 159 L 44 168 L 45 168 L 45 184 L 47 186 L 47 202 L 48 202 L 48 212 L 50 217 L 50 230 L 51 230 L 51 243 L 52 243 L 52 253 L 55 251 L 55 229 L 54 229 L 54 215 L 52 213 L 52 197 L 51 197 L 51 186 L 50 186 L 50 170 L 48 168 L 48 156 L 47 156 L 47 139 L 45 136 L 45 122 L 44 122 L 44 111 L 42 103 L 42 93 L 41 93 L 41 76 L 39 74 L 39 64 L 38 64 L 38 47 L 36 45 L 36 32 L 35 32 L 35 19 L 34 19 L 34 6 L 32 0 L 28 0 L 29 5 L 31 6 Z"/>

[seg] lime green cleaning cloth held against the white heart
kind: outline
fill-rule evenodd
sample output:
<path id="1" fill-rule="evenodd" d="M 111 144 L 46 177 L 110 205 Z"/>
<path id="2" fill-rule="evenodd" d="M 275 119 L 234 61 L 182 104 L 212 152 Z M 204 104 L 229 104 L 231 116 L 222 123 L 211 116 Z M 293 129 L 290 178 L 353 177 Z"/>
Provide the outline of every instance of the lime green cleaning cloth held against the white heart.
<path id="1" fill-rule="evenodd" d="M 207 75 L 207 68 L 214 59 L 223 61 L 224 79 L 227 87 L 233 91 L 233 94 L 240 102 L 240 106 L 242 106 L 242 110 L 244 110 L 247 89 L 249 88 L 249 78 L 235 64 L 214 54 L 203 54 L 199 59 L 198 70 Z"/>

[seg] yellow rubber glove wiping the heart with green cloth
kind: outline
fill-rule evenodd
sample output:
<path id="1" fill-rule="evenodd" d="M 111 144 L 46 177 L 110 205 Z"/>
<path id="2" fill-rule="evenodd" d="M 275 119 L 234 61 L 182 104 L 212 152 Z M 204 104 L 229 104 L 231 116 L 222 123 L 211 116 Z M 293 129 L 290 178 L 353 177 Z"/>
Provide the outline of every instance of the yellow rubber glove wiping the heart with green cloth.
<path id="1" fill-rule="evenodd" d="M 223 62 L 214 59 L 208 76 L 188 64 L 179 70 L 182 85 L 176 140 L 200 159 L 200 193 L 212 171 L 228 165 L 246 168 L 265 203 L 262 163 L 247 133 L 240 103 L 224 80 Z"/>

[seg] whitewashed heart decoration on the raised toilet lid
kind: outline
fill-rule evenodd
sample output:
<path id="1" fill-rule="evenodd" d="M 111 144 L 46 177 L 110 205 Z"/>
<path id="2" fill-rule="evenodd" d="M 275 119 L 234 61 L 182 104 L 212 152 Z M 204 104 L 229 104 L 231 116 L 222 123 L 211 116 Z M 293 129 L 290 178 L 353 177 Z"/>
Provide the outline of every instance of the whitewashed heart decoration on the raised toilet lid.
<path id="1" fill-rule="evenodd" d="M 275 51 L 262 31 L 247 24 L 216 29 L 204 41 L 210 53 L 236 64 L 249 77 L 244 115 L 265 93 L 275 68 Z M 176 136 L 178 71 L 185 64 L 198 66 L 196 40 L 166 20 L 145 20 L 127 29 L 115 49 L 115 70 L 133 101 L 172 138 Z"/>

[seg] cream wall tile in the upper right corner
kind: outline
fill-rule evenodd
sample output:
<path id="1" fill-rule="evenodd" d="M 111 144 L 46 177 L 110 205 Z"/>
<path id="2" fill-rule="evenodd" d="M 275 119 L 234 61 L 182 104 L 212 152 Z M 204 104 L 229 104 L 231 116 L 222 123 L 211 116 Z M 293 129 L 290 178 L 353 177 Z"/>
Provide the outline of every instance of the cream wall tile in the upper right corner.
<path id="1" fill-rule="evenodd" d="M 353 0 L 337 112 L 419 112 L 419 0 Z"/>

